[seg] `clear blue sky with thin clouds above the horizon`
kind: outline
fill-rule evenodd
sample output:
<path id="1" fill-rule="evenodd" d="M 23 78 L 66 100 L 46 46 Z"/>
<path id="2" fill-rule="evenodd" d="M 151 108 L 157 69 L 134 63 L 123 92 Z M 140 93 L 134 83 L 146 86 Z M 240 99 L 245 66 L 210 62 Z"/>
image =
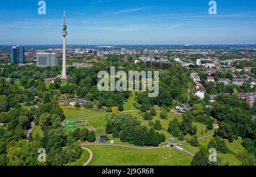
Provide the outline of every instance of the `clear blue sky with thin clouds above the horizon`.
<path id="1" fill-rule="evenodd" d="M 39 0 L 0 2 L 0 44 L 256 44 L 256 1 Z"/>

